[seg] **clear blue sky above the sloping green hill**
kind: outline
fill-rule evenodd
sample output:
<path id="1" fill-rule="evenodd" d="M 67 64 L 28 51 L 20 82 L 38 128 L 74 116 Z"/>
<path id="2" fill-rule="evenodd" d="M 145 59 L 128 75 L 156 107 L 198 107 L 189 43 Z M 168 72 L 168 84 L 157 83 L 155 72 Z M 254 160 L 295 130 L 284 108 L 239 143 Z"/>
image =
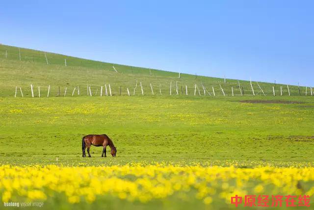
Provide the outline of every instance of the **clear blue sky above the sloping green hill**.
<path id="1" fill-rule="evenodd" d="M 0 2 L 0 43 L 168 71 L 314 86 L 314 1 Z"/>

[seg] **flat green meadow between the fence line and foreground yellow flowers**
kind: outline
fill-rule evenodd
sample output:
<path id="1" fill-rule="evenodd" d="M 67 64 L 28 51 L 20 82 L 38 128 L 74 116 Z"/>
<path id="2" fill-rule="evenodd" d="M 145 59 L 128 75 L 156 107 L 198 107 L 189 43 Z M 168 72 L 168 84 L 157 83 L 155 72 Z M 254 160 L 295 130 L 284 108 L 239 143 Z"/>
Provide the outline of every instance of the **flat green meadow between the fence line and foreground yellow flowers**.
<path id="1" fill-rule="evenodd" d="M 314 161 L 312 98 L 281 98 L 302 104 L 239 102 L 272 98 L 1 98 L 0 163 L 52 164 L 56 157 L 75 165 Z M 82 158 L 82 136 L 102 133 L 118 157 L 101 158 L 102 149 L 92 147 L 92 158 Z"/>

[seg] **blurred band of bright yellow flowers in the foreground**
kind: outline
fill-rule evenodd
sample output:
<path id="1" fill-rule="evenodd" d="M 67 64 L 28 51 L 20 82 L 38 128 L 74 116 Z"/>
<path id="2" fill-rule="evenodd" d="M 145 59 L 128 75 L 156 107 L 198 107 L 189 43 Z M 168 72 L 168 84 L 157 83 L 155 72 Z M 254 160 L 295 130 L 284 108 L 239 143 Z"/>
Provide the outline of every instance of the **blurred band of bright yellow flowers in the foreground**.
<path id="1" fill-rule="evenodd" d="M 0 166 L 2 202 L 45 201 L 61 194 L 69 203 L 93 203 L 101 196 L 147 203 L 176 196 L 231 205 L 235 195 L 312 196 L 313 183 L 314 167 Z"/>

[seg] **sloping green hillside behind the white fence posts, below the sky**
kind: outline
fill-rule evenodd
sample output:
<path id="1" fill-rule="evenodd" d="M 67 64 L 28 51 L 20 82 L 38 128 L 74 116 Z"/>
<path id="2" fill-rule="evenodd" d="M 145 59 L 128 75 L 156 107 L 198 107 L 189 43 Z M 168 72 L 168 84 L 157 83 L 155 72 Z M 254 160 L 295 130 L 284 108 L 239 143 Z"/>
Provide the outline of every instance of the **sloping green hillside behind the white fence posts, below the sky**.
<path id="1" fill-rule="evenodd" d="M 195 76 L 168 72 L 157 69 L 127 66 L 121 64 L 106 63 L 100 61 L 79 59 L 54 53 L 29 50 L 24 48 L 0 45 L 0 96 L 14 96 L 15 87 L 21 87 L 26 97 L 31 96 L 30 84 L 34 86 L 35 96 L 38 95 L 38 87 L 41 87 L 41 95 L 47 95 L 48 86 L 51 86 L 51 96 L 57 95 L 60 87 L 61 95 L 67 88 L 67 95 L 71 95 L 75 87 L 80 88 L 81 96 L 87 95 L 87 86 L 91 87 L 92 95 L 100 95 L 100 87 L 110 84 L 113 95 L 127 95 L 129 88 L 133 95 L 137 81 L 135 95 L 141 95 L 140 82 L 143 86 L 144 95 L 151 95 L 150 84 L 153 86 L 154 94 L 159 93 L 159 87 L 163 95 L 169 95 L 169 88 L 172 81 L 172 94 L 185 94 L 185 86 L 188 88 L 188 95 L 194 96 L 194 86 L 197 84 L 200 93 L 204 96 L 202 84 L 206 90 L 213 95 L 223 95 L 220 86 L 226 95 L 240 95 L 237 80 Z M 67 66 L 65 66 L 65 59 Z M 113 67 L 118 71 L 115 72 Z M 239 81 L 245 95 L 252 95 L 249 81 Z M 258 84 L 253 83 L 255 94 L 262 94 Z M 272 87 L 275 87 L 276 95 L 280 95 L 280 86 L 283 88 L 283 95 L 288 95 L 287 85 L 259 83 L 266 95 L 273 95 Z M 289 86 L 291 95 L 305 94 L 305 87 Z M 206 95 L 209 93 L 206 91 Z M 97 94 L 96 94 L 97 92 Z M 198 90 L 196 92 L 199 95 Z M 310 90 L 308 89 L 308 95 Z M 18 92 L 20 96 L 20 92 Z"/>

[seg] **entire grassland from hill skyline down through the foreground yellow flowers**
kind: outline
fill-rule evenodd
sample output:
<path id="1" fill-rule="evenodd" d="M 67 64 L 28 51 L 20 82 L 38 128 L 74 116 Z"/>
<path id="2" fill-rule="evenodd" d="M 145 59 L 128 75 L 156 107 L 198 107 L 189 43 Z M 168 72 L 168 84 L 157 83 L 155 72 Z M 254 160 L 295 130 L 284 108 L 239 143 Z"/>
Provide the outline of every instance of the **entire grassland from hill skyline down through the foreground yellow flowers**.
<path id="1" fill-rule="evenodd" d="M 44 209 L 230 209 L 228 198 L 236 193 L 314 194 L 314 100 L 304 87 L 300 96 L 291 86 L 288 96 L 282 85 L 285 96 L 274 97 L 273 84 L 259 83 L 267 96 L 253 96 L 249 82 L 240 81 L 246 94 L 239 96 L 236 80 L 179 79 L 114 64 L 116 73 L 110 63 L 50 53 L 47 65 L 43 52 L 27 49 L 20 61 L 18 48 L 5 45 L 0 52 L 2 202 L 43 201 Z M 59 64 L 64 58 L 67 67 Z M 136 80 L 144 96 L 139 89 L 126 96 Z M 173 93 L 178 81 L 189 95 L 180 88 L 169 96 L 170 81 Z M 216 96 L 194 96 L 192 87 L 201 89 L 201 82 Z M 86 85 L 95 91 L 104 83 L 112 85 L 112 97 L 85 96 Z M 150 83 L 161 84 L 163 94 L 151 95 Z M 51 85 L 51 97 L 31 98 L 30 84 L 43 87 L 42 95 Z M 16 86 L 24 98 L 14 98 Z M 54 97 L 59 86 L 70 92 L 80 86 L 84 94 Z M 82 158 L 81 138 L 103 133 L 117 157 L 102 158 L 102 148 L 92 147 L 92 157 Z"/>

